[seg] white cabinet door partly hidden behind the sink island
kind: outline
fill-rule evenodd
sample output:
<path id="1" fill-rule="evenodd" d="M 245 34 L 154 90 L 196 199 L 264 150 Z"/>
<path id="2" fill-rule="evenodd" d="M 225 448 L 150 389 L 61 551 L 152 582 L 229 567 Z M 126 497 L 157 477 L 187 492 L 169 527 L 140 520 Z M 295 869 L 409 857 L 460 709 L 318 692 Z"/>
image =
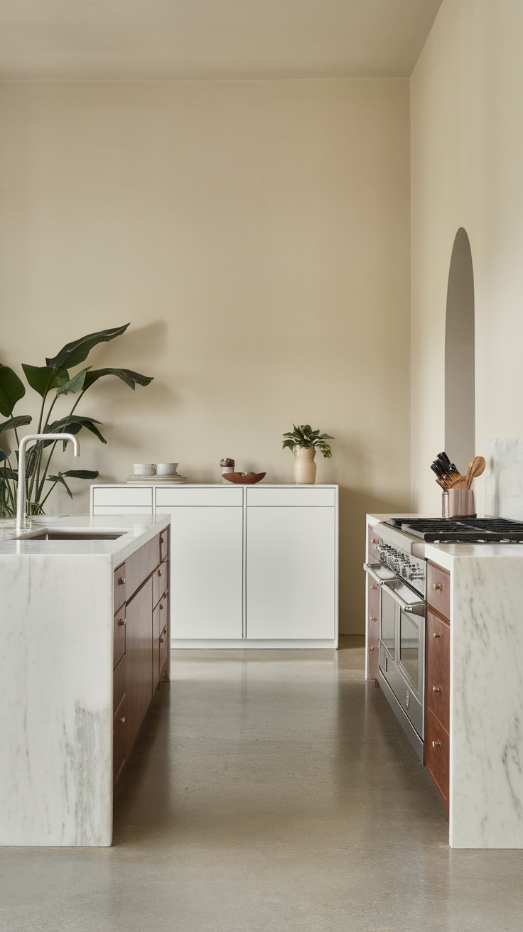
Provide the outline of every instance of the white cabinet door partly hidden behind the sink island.
<path id="1" fill-rule="evenodd" d="M 243 509 L 158 507 L 171 514 L 171 635 L 240 638 Z"/>

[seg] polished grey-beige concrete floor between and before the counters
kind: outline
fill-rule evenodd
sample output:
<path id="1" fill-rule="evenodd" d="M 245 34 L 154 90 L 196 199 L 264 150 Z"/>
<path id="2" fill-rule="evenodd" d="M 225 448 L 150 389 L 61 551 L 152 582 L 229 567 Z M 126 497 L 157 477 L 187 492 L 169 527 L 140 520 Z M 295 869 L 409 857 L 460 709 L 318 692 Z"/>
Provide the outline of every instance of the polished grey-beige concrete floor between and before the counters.
<path id="1" fill-rule="evenodd" d="M 107 849 L 0 849 L 8 932 L 520 932 L 523 852 L 451 851 L 361 641 L 179 651 Z"/>

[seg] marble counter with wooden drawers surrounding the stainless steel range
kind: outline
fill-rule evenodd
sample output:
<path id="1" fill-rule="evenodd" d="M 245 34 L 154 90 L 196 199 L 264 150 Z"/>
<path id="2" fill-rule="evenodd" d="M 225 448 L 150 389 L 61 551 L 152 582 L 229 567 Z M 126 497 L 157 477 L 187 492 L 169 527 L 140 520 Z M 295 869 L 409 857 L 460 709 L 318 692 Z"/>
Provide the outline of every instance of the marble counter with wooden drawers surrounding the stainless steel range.
<path id="1" fill-rule="evenodd" d="M 367 526 L 378 534 L 379 522 L 389 517 L 369 514 Z M 372 533 L 368 538 L 370 546 Z M 447 774 L 439 788 L 447 801 L 449 844 L 523 848 L 523 544 L 425 543 L 424 556 L 425 760 L 429 765 L 447 740 Z M 375 614 L 367 604 L 367 661 Z M 440 668 L 433 684 L 431 651 L 443 637 L 447 673 Z M 445 692 L 444 716 L 433 703 L 441 707 Z M 444 722 L 443 732 L 430 731 L 432 708 Z"/>

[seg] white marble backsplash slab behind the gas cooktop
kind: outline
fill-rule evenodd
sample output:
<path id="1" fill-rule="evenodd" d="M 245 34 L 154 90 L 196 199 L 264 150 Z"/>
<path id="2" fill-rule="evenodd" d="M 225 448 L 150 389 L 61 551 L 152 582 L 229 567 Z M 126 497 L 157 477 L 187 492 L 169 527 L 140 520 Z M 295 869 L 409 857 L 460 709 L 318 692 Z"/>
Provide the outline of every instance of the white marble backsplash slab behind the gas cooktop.
<path id="1" fill-rule="evenodd" d="M 523 437 L 485 442 L 485 514 L 523 521 Z"/>

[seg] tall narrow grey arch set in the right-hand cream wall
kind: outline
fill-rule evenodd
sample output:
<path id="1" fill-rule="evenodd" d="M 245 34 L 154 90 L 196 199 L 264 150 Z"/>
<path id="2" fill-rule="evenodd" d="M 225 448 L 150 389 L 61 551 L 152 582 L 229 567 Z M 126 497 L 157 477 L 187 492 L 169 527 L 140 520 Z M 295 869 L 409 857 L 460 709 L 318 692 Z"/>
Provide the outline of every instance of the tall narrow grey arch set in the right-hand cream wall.
<path id="1" fill-rule="evenodd" d="M 466 230 L 454 240 L 445 330 L 445 449 L 461 473 L 475 456 L 474 270 Z"/>

